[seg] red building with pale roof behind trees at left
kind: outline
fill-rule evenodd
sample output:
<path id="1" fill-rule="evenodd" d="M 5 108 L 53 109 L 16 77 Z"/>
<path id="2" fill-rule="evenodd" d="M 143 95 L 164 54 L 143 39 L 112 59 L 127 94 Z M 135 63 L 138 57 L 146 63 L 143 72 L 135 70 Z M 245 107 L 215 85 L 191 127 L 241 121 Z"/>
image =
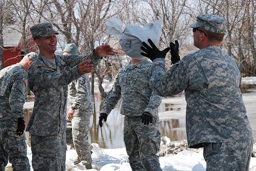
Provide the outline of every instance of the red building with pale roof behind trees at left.
<path id="1" fill-rule="evenodd" d="M 22 38 L 22 33 L 18 31 L 17 26 L 11 25 L 3 30 L 4 38 L 4 53 L 3 65 L 4 68 L 11 66 L 22 60 L 25 54 L 25 45 Z M 37 46 L 32 38 L 29 27 L 26 29 L 26 37 L 29 52 L 37 52 Z"/>

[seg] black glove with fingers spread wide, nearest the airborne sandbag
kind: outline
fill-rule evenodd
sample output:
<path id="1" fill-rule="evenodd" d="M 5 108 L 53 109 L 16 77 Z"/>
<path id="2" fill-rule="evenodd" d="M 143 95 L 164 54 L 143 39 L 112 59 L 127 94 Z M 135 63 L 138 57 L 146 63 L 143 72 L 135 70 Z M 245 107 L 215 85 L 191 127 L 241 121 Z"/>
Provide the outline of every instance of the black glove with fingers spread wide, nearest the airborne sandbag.
<path id="1" fill-rule="evenodd" d="M 142 51 L 144 51 L 145 53 L 141 52 L 140 54 L 142 56 L 145 56 L 147 58 L 150 58 L 152 61 L 156 58 L 165 58 L 166 53 L 170 50 L 170 48 L 166 48 L 162 51 L 160 51 L 156 45 L 154 44 L 154 42 L 151 39 L 147 40 L 150 43 L 150 46 L 148 46 L 144 41 L 142 42 L 142 47 L 140 47 L 140 49 Z"/>

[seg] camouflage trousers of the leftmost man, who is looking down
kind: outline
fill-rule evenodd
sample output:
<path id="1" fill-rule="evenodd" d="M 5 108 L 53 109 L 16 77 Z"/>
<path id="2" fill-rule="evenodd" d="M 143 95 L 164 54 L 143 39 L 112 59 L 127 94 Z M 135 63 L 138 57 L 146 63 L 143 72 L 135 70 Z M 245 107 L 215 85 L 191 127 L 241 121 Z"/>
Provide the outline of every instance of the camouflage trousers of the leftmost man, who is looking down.
<path id="1" fill-rule="evenodd" d="M 12 164 L 13 171 L 30 170 L 25 134 L 18 136 L 14 134 L 14 131 L 4 131 L 2 136 L 2 145 L 6 153 L 9 154 L 9 161 Z"/>

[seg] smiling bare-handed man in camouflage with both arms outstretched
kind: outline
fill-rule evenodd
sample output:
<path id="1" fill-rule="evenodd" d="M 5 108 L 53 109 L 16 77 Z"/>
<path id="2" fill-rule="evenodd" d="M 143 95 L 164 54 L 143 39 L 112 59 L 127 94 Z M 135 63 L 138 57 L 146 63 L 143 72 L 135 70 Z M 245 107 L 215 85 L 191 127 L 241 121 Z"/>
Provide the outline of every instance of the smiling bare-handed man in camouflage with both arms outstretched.
<path id="1" fill-rule="evenodd" d="M 51 23 L 37 24 L 30 31 L 40 50 L 28 73 L 29 88 L 35 94 L 27 126 L 33 169 L 65 170 L 68 84 L 91 72 L 100 57 L 113 54 L 113 50 L 102 45 L 88 56 L 55 55 L 58 33 Z M 85 59 L 91 59 L 93 65 Z"/>

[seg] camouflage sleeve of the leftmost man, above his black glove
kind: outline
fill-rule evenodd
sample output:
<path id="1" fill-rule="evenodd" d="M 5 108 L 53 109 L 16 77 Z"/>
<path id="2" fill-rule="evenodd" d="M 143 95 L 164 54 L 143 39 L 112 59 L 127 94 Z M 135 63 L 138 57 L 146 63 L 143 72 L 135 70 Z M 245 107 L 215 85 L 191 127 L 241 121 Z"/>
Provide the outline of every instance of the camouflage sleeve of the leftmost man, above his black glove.
<path id="1" fill-rule="evenodd" d="M 24 118 L 23 105 L 25 103 L 25 96 L 25 80 L 16 79 L 12 84 L 11 94 L 9 96 L 9 104 L 11 106 L 12 113 L 17 116 L 17 118 Z"/>

